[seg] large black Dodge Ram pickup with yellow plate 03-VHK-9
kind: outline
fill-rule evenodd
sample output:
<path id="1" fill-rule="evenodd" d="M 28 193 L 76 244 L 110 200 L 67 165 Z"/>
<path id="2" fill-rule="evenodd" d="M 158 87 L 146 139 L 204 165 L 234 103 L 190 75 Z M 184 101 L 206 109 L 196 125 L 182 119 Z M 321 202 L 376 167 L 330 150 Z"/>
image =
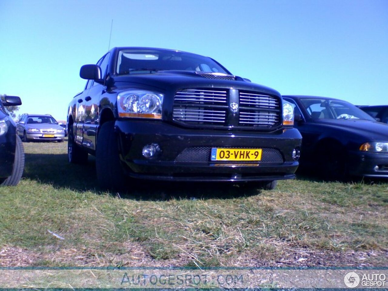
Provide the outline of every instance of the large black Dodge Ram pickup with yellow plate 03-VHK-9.
<path id="1" fill-rule="evenodd" d="M 68 108 L 68 157 L 96 156 L 104 188 L 125 177 L 165 181 L 294 178 L 301 135 L 279 92 L 232 75 L 209 57 L 121 47 L 85 65 Z"/>

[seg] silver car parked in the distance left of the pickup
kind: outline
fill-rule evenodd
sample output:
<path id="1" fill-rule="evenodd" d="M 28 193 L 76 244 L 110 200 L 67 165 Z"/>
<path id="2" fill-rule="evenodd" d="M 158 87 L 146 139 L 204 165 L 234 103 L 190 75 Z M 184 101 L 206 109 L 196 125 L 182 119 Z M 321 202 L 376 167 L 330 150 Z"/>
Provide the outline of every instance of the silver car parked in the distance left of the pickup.
<path id="1" fill-rule="evenodd" d="M 16 133 L 24 142 L 31 140 L 56 140 L 63 142 L 65 132 L 50 114 L 22 114 L 17 123 Z"/>

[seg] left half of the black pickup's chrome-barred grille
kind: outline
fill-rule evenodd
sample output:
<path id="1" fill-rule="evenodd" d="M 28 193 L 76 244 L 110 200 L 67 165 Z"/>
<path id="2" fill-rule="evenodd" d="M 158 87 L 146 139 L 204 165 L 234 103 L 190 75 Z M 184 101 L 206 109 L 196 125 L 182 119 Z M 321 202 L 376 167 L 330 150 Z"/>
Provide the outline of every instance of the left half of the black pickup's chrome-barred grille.
<path id="1" fill-rule="evenodd" d="M 226 89 L 186 89 L 175 94 L 173 118 L 189 125 L 223 125 L 226 108 Z"/>

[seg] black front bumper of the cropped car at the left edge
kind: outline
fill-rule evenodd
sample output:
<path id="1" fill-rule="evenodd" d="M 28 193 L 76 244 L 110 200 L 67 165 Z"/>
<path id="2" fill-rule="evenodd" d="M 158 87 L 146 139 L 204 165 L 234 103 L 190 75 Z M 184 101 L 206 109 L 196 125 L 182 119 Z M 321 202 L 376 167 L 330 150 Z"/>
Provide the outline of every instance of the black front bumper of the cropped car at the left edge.
<path id="1" fill-rule="evenodd" d="M 9 128 L 5 135 L 0 137 L 0 178 L 8 178 L 12 174 L 15 160 L 16 135 Z"/>

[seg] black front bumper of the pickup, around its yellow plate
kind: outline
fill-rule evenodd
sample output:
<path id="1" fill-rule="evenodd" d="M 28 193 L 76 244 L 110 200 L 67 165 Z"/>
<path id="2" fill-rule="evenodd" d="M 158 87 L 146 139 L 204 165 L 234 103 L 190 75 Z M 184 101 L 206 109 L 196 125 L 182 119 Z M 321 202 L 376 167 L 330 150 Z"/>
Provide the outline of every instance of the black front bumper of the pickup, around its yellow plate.
<path id="1" fill-rule="evenodd" d="M 292 151 L 301 146 L 298 130 L 274 133 L 192 130 L 163 122 L 118 120 L 121 160 L 133 178 L 167 181 L 271 181 L 295 178 L 298 161 Z M 142 156 L 147 144 L 161 152 Z M 260 162 L 210 161 L 213 147 L 262 148 Z"/>

